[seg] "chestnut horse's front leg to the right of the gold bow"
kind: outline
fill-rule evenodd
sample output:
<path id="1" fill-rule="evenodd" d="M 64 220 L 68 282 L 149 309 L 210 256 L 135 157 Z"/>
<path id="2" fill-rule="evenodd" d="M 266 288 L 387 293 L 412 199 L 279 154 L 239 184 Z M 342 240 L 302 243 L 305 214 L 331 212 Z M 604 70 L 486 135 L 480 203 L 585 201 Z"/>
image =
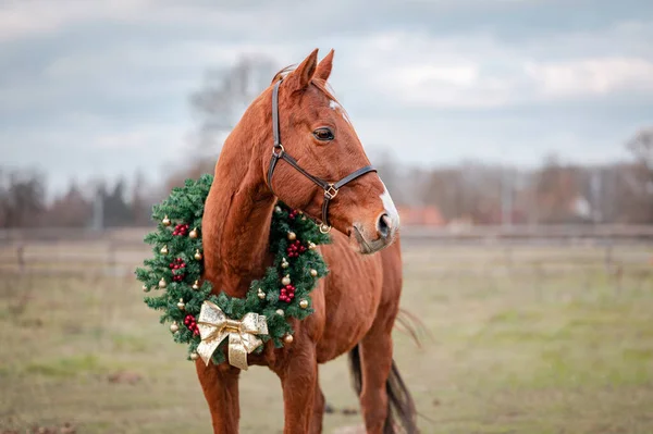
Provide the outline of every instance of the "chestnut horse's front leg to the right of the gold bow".
<path id="1" fill-rule="evenodd" d="M 305 344 L 300 345 L 304 342 Z M 283 387 L 284 434 L 309 432 L 318 387 L 318 360 L 315 344 L 298 338 L 286 363 L 276 374 Z"/>

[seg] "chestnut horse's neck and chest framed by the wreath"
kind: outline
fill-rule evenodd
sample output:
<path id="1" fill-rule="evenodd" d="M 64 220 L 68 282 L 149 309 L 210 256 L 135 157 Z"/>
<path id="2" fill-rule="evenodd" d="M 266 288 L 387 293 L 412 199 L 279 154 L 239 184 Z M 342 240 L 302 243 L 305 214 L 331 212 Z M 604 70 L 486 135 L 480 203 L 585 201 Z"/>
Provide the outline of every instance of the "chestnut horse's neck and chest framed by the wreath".
<path id="1" fill-rule="evenodd" d="M 248 161 L 243 147 L 231 149 L 238 152 L 223 151 L 205 206 L 205 278 L 215 293 L 243 298 L 271 262 L 268 247 L 275 199 L 257 175 L 259 163 Z"/>

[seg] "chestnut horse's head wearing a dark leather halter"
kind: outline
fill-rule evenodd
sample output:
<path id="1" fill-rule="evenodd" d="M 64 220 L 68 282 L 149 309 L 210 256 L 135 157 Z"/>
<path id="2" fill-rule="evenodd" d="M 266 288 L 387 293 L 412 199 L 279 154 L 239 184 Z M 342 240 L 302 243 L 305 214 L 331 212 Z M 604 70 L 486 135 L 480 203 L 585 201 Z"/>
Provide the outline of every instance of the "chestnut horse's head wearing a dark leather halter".
<path id="1" fill-rule="evenodd" d="M 315 50 L 273 79 L 280 144 L 274 164 L 263 159 L 266 178 L 282 201 L 322 221 L 323 230 L 333 226 L 353 237 L 362 253 L 373 253 L 392 244 L 399 216 L 346 112 L 326 89 L 333 50 L 319 64 L 317 58 Z"/>

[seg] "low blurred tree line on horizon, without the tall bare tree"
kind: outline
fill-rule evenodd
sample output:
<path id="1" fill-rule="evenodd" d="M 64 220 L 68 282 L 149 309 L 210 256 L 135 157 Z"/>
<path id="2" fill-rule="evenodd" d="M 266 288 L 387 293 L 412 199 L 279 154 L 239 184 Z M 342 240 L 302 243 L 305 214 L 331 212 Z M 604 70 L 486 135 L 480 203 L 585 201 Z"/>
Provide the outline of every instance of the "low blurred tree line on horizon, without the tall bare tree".
<path id="1" fill-rule="evenodd" d="M 653 224 L 653 166 L 644 159 L 590 166 L 551 157 L 532 170 L 475 162 L 420 170 L 389 154 L 372 160 L 401 209 L 432 207 L 447 223 Z M 45 175 L 0 168 L 0 227 L 150 225 L 151 207 L 171 187 L 207 172 L 212 168 L 198 161 L 156 187 L 136 181 L 127 188 L 120 179 L 82 191 L 71 184 L 47 201 Z"/>

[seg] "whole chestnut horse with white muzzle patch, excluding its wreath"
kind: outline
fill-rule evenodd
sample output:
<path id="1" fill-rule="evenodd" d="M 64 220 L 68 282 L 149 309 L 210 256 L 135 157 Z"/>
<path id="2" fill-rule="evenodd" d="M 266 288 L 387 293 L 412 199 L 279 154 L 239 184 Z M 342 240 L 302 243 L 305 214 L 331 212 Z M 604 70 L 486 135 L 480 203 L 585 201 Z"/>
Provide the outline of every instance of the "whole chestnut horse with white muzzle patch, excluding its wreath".
<path id="1" fill-rule="evenodd" d="M 202 221 L 205 278 L 232 297 L 245 297 L 250 282 L 272 263 L 268 239 L 278 199 L 323 220 L 329 195 L 307 173 L 337 181 L 370 164 L 346 113 L 326 89 L 333 50 L 319 64 L 317 60 L 315 50 L 295 70 L 276 74 L 245 111 L 215 165 Z M 272 101 L 275 85 L 278 100 Z M 283 148 L 273 147 L 275 110 Z M 279 156 L 281 149 L 306 173 L 282 160 L 270 170 L 271 152 Z M 292 344 L 274 348 L 268 342 L 260 355 L 249 355 L 248 363 L 267 365 L 281 379 L 284 433 L 322 431 L 325 401 L 318 363 L 347 351 L 367 432 L 394 433 L 399 423 L 417 432 L 415 406 L 392 357 L 391 332 L 402 292 L 397 211 L 369 169 L 332 196 L 326 212 L 335 228 L 333 244 L 320 247 L 330 273 L 311 293 L 315 313 L 293 320 Z M 241 371 L 201 360 L 196 365 L 214 433 L 237 433 Z"/>

